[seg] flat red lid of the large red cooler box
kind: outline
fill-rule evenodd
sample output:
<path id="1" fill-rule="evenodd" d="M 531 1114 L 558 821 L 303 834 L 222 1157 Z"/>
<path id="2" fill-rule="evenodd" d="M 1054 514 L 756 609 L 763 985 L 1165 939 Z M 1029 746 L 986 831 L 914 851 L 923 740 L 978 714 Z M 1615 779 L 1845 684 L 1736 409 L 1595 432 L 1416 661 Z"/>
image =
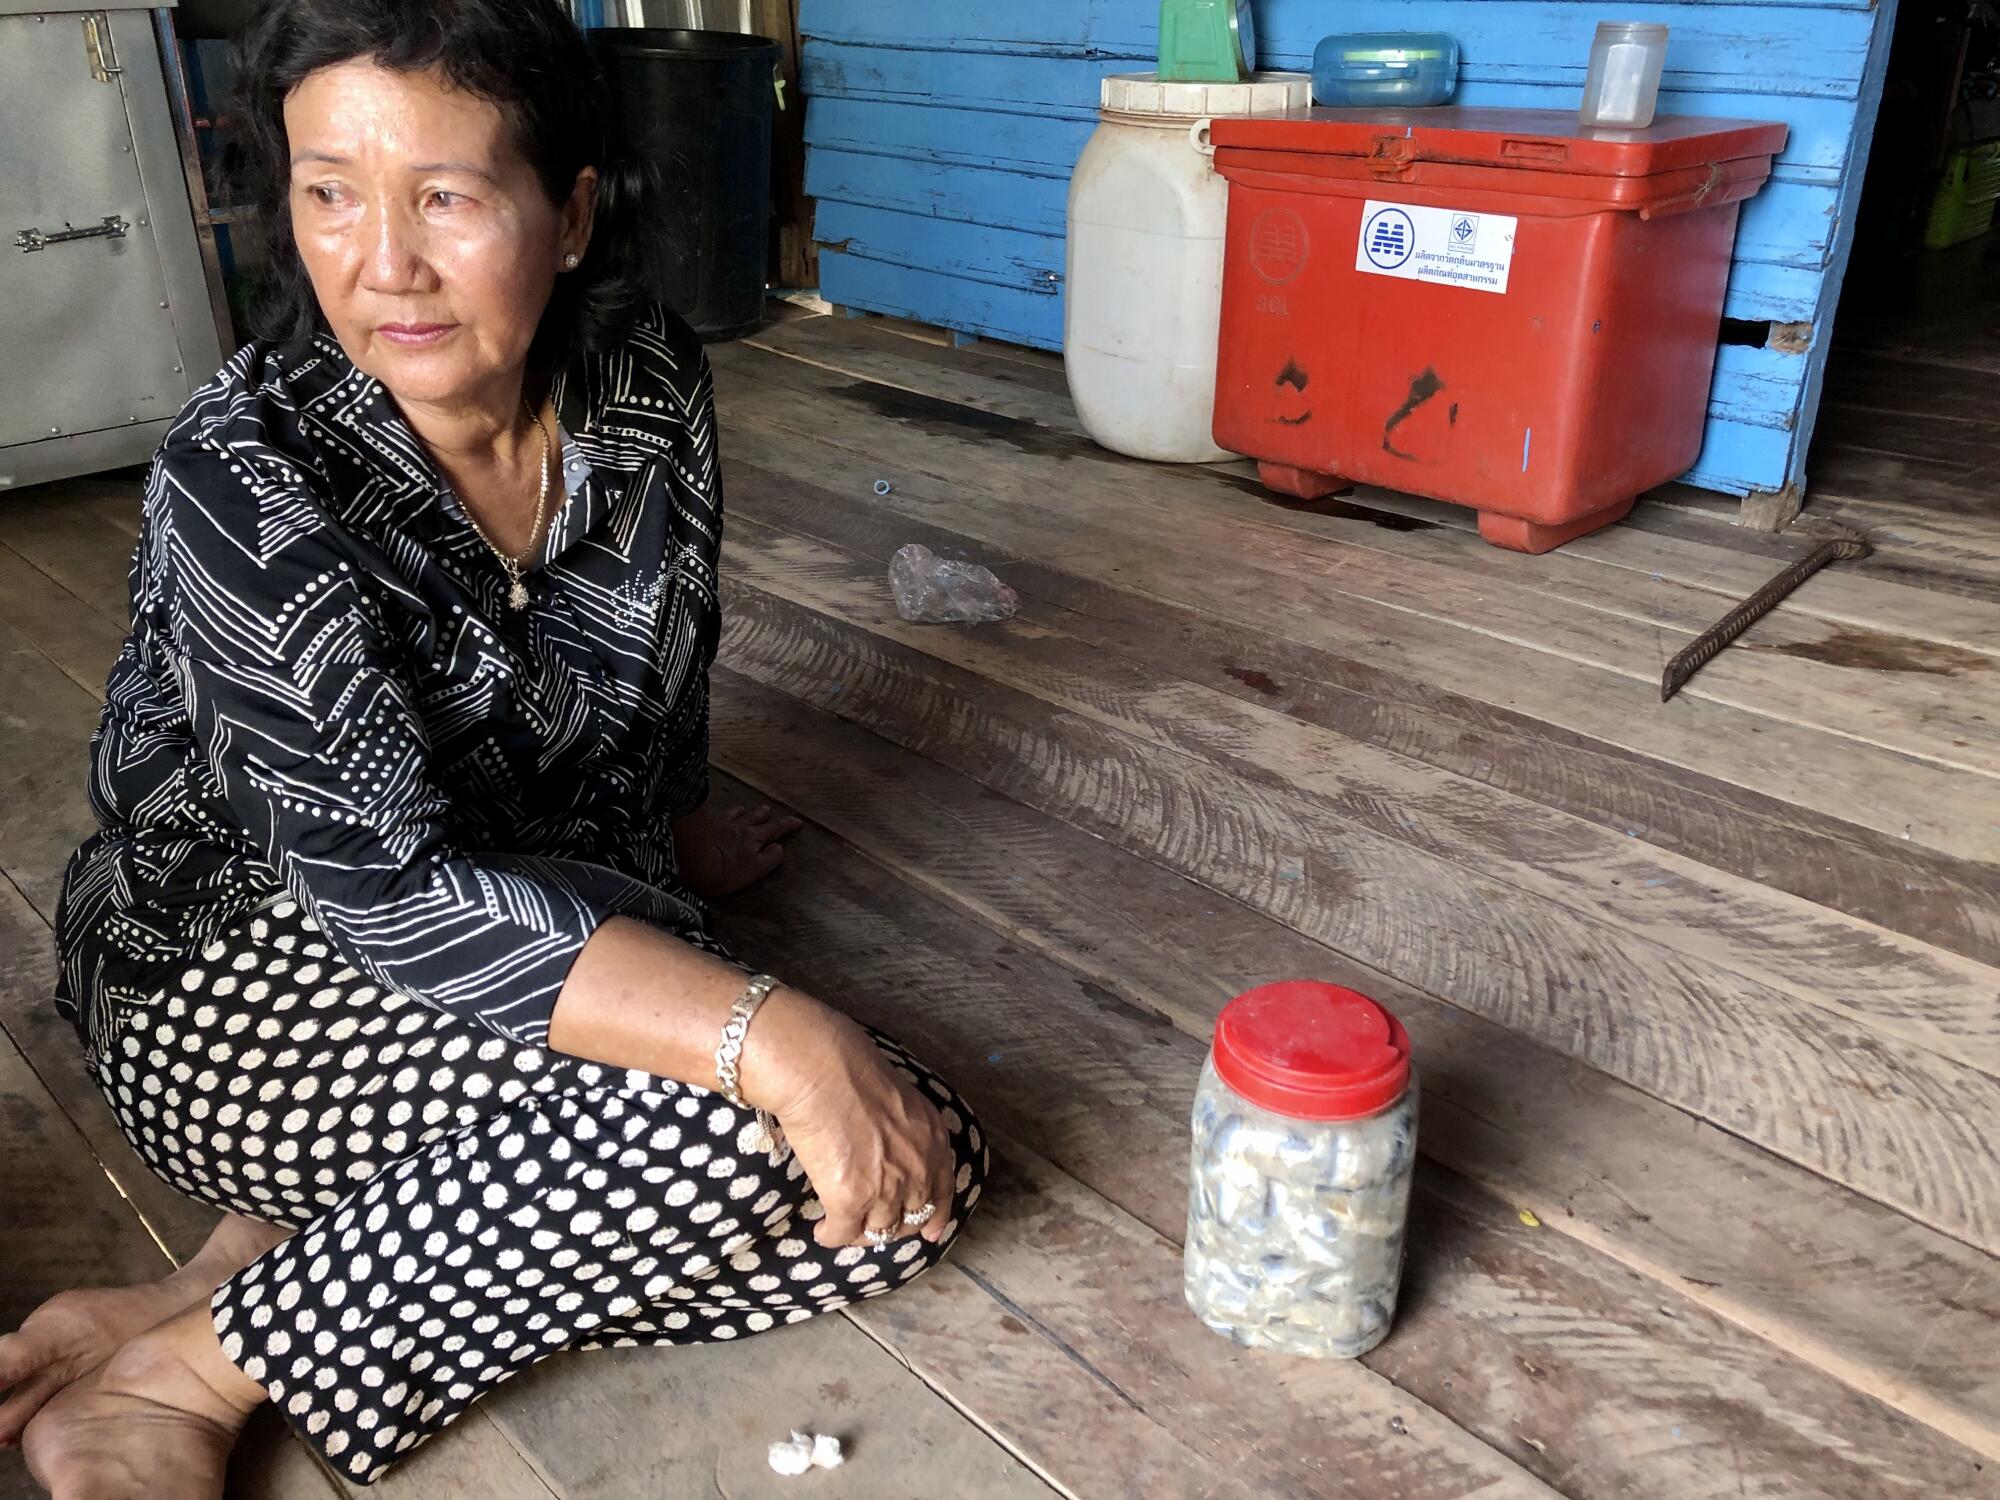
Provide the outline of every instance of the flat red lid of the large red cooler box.
<path id="1" fill-rule="evenodd" d="M 1218 150 L 1364 158 L 1372 162 L 1448 162 L 1502 166 L 1568 176 L 1646 178 L 1784 150 L 1786 128 L 1768 120 L 1712 120 L 1662 114 L 1646 130 L 1598 130 L 1560 110 L 1476 110 L 1456 104 L 1426 110 L 1286 110 L 1218 118 Z M 1288 162 L 1286 172 L 1310 170 Z"/>

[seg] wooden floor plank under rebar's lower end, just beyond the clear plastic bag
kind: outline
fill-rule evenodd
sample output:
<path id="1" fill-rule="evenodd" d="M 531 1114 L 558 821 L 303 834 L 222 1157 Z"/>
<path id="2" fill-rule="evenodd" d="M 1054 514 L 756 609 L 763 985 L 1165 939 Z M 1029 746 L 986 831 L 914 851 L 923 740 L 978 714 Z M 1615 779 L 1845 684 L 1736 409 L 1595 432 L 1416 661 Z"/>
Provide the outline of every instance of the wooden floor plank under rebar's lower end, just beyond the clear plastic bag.
<path id="1" fill-rule="evenodd" d="M 744 358 L 784 364 L 762 354 Z M 760 382 L 762 376 L 722 378 L 724 420 L 740 456 L 780 472 L 788 464 L 810 466 L 810 474 L 794 478 L 856 494 L 866 488 L 868 474 L 884 472 L 880 456 L 850 452 L 844 444 L 890 446 L 892 424 L 862 424 L 838 402 Z M 830 424 L 844 424 L 848 434 Z M 856 430 L 866 436 L 852 436 Z M 926 462 L 936 458 L 926 454 Z M 1986 822 L 2000 824 L 2000 782 L 1994 792 L 1968 788 L 1962 774 L 1942 766 L 1716 702 L 1662 706 L 1656 686 L 1630 676 L 1342 594 L 1312 568 L 1300 570 L 1300 548 L 1266 554 L 1244 548 L 1234 530 L 1192 522 L 1114 528 L 1080 520 L 1062 504 L 1066 484 L 1062 474 L 1012 462 L 980 468 L 978 458 L 968 458 L 950 480 L 900 470 L 898 488 L 882 504 L 1102 582 L 1178 600 L 1218 620 L 1316 646 L 1366 648 L 1384 670 L 1898 838 L 1908 834 L 1948 854 L 1990 852 Z M 1230 558 L 1228 570 L 1214 564 L 1222 556 Z M 1968 800 L 1974 806 L 1966 806 Z M 1946 806 L 1962 812 L 1948 816 Z"/>

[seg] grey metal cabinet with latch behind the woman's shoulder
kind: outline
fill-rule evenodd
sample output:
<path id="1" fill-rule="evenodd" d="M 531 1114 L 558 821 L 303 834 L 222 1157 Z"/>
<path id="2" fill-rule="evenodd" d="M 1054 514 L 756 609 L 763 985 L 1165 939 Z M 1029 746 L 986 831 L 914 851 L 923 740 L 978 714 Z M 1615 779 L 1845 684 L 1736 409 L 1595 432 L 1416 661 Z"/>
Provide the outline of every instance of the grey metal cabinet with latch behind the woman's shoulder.
<path id="1" fill-rule="evenodd" d="M 222 364 L 160 34 L 0 0 L 0 490 L 144 462 Z"/>

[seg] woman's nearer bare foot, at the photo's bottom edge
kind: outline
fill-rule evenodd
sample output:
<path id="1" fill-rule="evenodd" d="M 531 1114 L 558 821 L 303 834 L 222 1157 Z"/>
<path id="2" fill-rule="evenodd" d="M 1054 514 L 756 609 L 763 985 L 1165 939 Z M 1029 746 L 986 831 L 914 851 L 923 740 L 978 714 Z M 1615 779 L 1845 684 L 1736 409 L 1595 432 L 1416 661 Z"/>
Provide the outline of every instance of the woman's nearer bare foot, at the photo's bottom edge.
<path id="1" fill-rule="evenodd" d="M 50 1500 L 220 1500 L 230 1448 L 262 1402 L 202 1304 L 64 1386 L 20 1448 Z"/>

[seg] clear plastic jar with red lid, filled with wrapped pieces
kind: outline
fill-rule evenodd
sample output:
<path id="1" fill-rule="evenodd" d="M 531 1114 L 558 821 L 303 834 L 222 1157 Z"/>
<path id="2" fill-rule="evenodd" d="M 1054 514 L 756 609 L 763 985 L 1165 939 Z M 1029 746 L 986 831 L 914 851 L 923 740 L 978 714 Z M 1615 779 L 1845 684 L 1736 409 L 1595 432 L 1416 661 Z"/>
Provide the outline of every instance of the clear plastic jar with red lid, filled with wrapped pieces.
<path id="1" fill-rule="evenodd" d="M 1290 980 L 1232 1000 L 1194 1096 L 1186 1290 L 1238 1344 L 1350 1360 L 1396 1316 L 1416 1070 L 1364 994 Z"/>

